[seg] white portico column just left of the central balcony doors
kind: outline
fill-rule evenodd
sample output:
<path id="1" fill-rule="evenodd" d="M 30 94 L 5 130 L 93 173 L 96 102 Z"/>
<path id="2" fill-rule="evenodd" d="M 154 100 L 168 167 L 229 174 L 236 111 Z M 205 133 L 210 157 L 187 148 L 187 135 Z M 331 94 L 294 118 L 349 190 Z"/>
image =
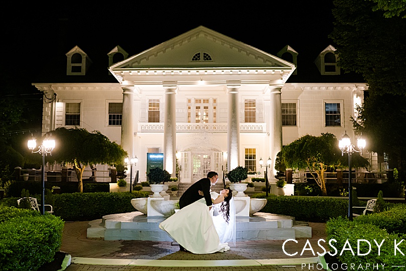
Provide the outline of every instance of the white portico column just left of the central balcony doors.
<path id="1" fill-rule="evenodd" d="M 176 174 L 176 88 L 165 88 L 165 118 L 163 124 L 163 166 L 172 178 Z"/>

